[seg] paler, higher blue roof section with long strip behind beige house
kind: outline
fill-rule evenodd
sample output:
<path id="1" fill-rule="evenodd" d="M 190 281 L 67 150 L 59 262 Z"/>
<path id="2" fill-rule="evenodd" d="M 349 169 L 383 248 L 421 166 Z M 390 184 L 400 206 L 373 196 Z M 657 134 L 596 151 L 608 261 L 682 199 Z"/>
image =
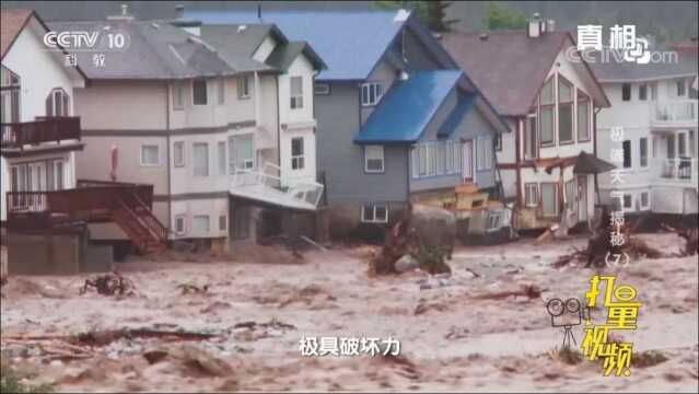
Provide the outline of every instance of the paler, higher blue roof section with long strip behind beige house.
<path id="1" fill-rule="evenodd" d="M 363 80 L 405 20 L 387 10 L 190 10 L 185 20 L 205 24 L 273 23 L 290 40 L 305 40 L 328 66 L 317 80 Z M 361 54 L 361 55 L 360 55 Z"/>

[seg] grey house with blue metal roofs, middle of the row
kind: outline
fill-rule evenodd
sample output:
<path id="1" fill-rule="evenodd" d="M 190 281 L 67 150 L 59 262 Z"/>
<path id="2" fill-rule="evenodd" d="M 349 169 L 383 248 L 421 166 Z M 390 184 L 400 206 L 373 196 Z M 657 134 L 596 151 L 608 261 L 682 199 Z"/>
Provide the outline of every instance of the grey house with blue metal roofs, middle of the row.
<path id="1" fill-rule="evenodd" d="M 327 63 L 315 77 L 318 181 L 331 235 L 391 223 L 409 201 L 497 190 L 506 125 L 405 11 L 185 11 L 205 25 L 275 23 Z M 366 227 L 366 225 L 363 225 Z"/>

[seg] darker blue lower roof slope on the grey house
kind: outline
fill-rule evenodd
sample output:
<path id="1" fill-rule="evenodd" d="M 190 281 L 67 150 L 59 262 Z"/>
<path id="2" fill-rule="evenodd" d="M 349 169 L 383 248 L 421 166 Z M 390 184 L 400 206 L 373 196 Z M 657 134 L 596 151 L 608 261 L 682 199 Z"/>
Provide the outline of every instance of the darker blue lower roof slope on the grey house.
<path id="1" fill-rule="evenodd" d="M 461 70 L 416 71 L 407 81 L 396 82 L 369 116 L 354 142 L 416 142 L 462 74 Z"/>

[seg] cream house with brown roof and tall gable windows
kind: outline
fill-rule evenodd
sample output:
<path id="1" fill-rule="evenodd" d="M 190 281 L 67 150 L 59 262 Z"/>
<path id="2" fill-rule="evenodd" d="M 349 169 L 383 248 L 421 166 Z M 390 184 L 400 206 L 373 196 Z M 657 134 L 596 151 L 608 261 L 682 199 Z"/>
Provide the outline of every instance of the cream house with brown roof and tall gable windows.
<path id="1" fill-rule="evenodd" d="M 595 117 L 609 101 L 587 63 L 567 56 L 570 33 L 552 27 L 535 16 L 527 31 L 442 38 L 513 131 L 502 135 L 497 159 L 517 229 L 587 223 L 594 173 L 606 166 L 595 158 Z"/>

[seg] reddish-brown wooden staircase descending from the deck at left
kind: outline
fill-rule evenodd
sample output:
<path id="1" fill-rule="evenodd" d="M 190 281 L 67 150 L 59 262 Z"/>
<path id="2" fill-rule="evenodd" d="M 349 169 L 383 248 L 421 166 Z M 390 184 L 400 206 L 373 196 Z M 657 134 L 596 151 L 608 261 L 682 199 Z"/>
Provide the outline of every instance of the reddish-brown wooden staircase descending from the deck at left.
<path id="1" fill-rule="evenodd" d="M 112 218 L 141 254 L 165 251 L 167 229 L 135 193 L 123 194 L 116 199 Z"/>

